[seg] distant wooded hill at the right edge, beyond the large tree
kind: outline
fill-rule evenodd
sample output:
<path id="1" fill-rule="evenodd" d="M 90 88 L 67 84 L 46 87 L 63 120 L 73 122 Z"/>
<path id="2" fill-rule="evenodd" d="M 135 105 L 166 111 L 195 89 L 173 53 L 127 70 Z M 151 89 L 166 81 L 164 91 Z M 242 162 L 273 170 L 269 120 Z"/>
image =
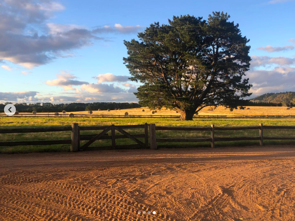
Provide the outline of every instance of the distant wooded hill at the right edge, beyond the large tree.
<path id="1" fill-rule="evenodd" d="M 265 93 L 250 99 L 250 101 L 293 106 L 295 105 L 295 92 Z"/>

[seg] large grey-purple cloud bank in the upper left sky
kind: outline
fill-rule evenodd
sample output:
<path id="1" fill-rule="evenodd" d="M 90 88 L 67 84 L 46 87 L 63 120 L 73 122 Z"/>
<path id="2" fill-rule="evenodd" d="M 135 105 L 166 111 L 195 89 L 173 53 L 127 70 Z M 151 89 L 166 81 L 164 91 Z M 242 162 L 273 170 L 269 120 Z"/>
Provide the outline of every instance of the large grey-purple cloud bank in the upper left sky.
<path id="1" fill-rule="evenodd" d="M 89 46 L 94 40 L 107 41 L 103 33 L 128 34 L 140 26 L 89 29 L 74 24 L 54 24 L 48 20 L 65 7 L 54 0 L 2 0 L 0 2 L 0 60 L 26 68 L 74 56 L 72 50 Z M 99 34 L 99 35 L 98 35 Z"/>

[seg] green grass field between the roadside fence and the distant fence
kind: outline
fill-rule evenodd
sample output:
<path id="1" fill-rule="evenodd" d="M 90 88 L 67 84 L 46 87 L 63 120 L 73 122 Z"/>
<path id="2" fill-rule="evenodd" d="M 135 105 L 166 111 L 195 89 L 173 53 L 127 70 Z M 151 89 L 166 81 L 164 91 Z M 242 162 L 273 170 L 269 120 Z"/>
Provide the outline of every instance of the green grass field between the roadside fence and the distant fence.
<path id="1" fill-rule="evenodd" d="M 36 128 L 36 127 L 57 127 L 70 126 L 71 123 L 79 123 L 80 126 L 107 126 L 107 125 L 136 125 L 144 123 L 154 123 L 157 126 L 178 126 L 178 127 L 210 127 L 214 124 L 216 127 L 234 127 L 234 126 L 258 126 L 264 125 L 288 125 L 295 126 L 295 119 L 198 119 L 194 121 L 179 121 L 177 119 L 151 119 L 151 118 L 16 118 L 0 117 L 0 128 Z M 143 133 L 143 129 L 126 130 L 128 133 Z M 98 131 L 83 131 L 81 134 L 95 134 Z M 295 136 L 295 130 L 265 130 L 265 136 Z M 231 136 L 258 136 L 258 130 L 245 131 L 217 131 L 216 137 Z M 158 131 L 157 137 L 209 137 L 210 132 L 172 132 Z M 10 133 L 0 134 L 0 141 L 21 141 L 21 140 L 51 140 L 51 139 L 69 139 L 70 132 L 47 132 L 47 133 Z M 85 142 L 85 141 L 84 141 Z M 117 139 L 117 144 L 133 144 L 130 139 Z M 268 144 L 295 144 L 295 141 L 289 140 L 265 140 Z M 224 146 L 248 146 L 258 145 L 259 141 L 228 141 L 216 142 L 216 147 Z M 111 145 L 111 140 L 96 141 L 93 146 Z M 209 142 L 201 143 L 158 143 L 161 147 L 209 147 Z M 50 152 L 50 151 L 69 151 L 69 144 L 48 145 L 48 146 L 13 146 L 0 147 L 0 153 L 28 153 L 28 152 Z"/>

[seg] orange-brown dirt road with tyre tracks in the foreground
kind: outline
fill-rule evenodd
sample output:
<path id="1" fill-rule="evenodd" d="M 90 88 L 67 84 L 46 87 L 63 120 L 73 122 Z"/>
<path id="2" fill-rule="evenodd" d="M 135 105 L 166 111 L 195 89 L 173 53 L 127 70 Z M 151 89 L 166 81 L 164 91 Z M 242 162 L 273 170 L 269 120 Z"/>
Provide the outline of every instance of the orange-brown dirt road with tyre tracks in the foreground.
<path id="1" fill-rule="evenodd" d="M 294 221 L 295 148 L 0 155 L 0 221 L 174 220 Z"/>

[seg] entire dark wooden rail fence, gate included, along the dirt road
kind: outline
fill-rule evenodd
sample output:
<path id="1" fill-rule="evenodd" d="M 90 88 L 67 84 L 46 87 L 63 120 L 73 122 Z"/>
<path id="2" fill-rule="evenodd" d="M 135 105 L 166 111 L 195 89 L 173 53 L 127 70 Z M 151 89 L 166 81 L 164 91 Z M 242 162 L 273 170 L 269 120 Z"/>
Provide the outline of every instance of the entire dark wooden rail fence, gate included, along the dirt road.
<path id="1" fill-rule="evenodd" d="M 149 128 L 149 132 L 148 132 Z M 130 134 L 124 129 L 143 129 L 141 134 Z M 125 125 L 125 126 L 91 126 L 79 127 L 73 123 L 71 127 L 50 127 L 50 128 L 22 128 L 22 129 L 0 129 L 0 133 L 42 133 L 42 132 L 60 132 L 71 131 L 70 139 L 60 140 L 33 140 L 33 141 L 0 141 L 0 146 L 18 146 L 18 145 L 53 145 L 53 144 L 70 144 L 72 152 L 85 149 L 120 149 L 120 148 L 148 148 L 157 149 L 158 142 L 210 142 L 211 147 L 215 147 L 216 141 L 237 141 L 237 140 L 259 140 L 263 145 L 263 140 L 295 140 L 295 136 L 264 136 L 263 131 L 267 129 L 295 129 L 295 126 L 258 126 L 247 127 L 164 127 L 155 124 L 148 125 Z M 238 130 L 258 130 L 259 136 L 238 136 L 238 137 L 215 137 L 216 131 L 238 131 Z M 81 131 L 102 131 L 97 134 L 80 134 Z M 111 131 L 109 135 L 108 132 Z M 116 131 L 120 135 L 116 134 Z M 210 131 L 210 136 L 199 138 L 157 138 L 157 131 Z M 129 138 L 136 142 L 131 145 L 117 145 L 116 139 Z M 144 142 L 138 138 L 144 138 Z M 96 140 L 112 140 L 111 146 L 90 147 Z M 80 141 L 87 141 L 80 146 Z M 150 143 L 149 143 L 150 140 Z"/>

